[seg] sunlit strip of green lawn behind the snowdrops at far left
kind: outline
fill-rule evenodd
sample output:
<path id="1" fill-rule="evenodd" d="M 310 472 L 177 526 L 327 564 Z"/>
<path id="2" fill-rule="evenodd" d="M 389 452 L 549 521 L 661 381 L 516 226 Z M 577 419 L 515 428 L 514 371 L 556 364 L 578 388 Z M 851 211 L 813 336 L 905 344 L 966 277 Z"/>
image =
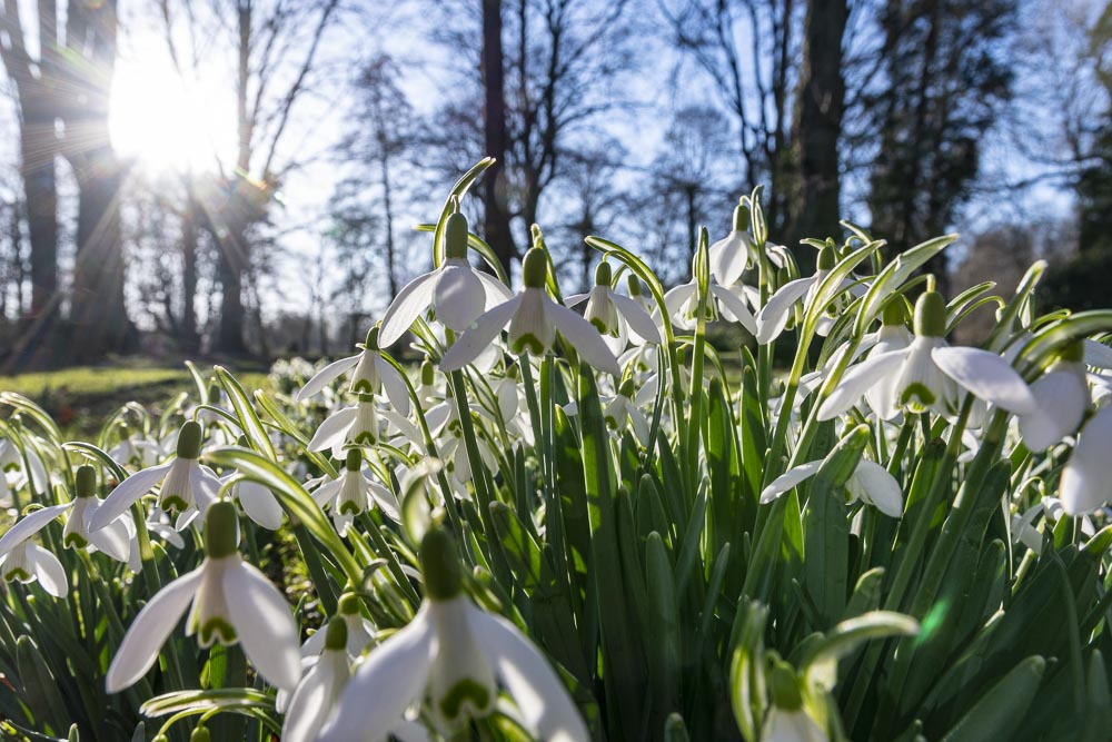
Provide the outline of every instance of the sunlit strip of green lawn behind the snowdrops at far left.
<path id="1" fill-rule="evenodd" d="M 202 373 L 209 367 L 198 364 Z M 264 367 L 229 368 L 250 394 L 269 389 Z M 0 376 L 0 392 L 17 392 L 41 405 L 62 432 L 73 438 L 90 438 L 103 421 L 128 402 L 138 402 L 152 412 L 165 409 L 179 392 L 193 393 L 192 378 L 185 366 L 153 365 L 128 360 L 115 366 L 75 366 L 49 372 Z M 6 414 L 0 410 L 0 415 Z"/>

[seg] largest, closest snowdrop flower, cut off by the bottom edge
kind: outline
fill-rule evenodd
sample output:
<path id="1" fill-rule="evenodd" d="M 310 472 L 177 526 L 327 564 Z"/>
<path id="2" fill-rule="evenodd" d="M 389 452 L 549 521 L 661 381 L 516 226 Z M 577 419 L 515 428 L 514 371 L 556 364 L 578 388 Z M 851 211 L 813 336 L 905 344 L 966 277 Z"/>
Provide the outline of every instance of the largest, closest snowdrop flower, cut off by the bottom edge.
<path id="1" fill-rule="evenodd" d="M 502 616 L 463 592 L 456 547 L 439 530 L 420 546 L 426 598 L 413 622 L 356 670 L 320 742 L 386 740 L 410 705 L 428 700 L 431 719 L 451 734 L 495 709 L 499 685 L 526 730 L 545 740 L 589 739 L 567 689 L 548 661 Z"/>

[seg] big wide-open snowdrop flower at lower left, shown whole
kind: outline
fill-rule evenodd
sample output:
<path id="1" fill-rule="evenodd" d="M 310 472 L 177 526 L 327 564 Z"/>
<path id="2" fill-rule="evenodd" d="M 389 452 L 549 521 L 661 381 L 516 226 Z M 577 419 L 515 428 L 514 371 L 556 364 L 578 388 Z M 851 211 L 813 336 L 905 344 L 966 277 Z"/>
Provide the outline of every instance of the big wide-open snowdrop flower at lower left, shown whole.
<path id="1" fill-rule="evenodd" d="M 297 685 L 301 663 L 289 604 L 261 572 L 244 562 L 238 545 L 236 506 L 214 503 L 205 514 L 205 560 L 166 585 L 136 616 L 108 669 L 109 693 L 147 673 L 190 603 L 187 636 L 196 633 L 202 647 L 216 641 L 241 643 L 268 683 L 286 690 Z"/>

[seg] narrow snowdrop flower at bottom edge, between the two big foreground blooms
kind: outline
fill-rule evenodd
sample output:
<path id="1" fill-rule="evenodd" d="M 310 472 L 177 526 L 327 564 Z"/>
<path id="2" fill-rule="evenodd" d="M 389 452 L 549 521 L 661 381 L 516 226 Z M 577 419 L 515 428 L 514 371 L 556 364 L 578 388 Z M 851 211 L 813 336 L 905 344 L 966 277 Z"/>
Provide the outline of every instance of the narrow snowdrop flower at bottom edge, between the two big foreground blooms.
<path id="1" fill-rule="evenodd" d="M 281 726 L 282 742 L 314 742 L 336 701 L 351 677 L 347 645 L 347 624 L 339 616 L 314 636 L 321 637 L 319 657 L 309 667 L 286 705 Z"/>

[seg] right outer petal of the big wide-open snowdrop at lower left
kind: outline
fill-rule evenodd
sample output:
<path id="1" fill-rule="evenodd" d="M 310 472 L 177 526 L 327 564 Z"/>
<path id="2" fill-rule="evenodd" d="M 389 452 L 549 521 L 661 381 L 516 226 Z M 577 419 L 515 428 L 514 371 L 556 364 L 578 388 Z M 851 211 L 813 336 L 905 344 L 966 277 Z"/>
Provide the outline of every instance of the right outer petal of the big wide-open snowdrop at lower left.
<path id="1" fill-rule="evenodd" d="M 229 564 L 224 596 L 244 653 L 267 682 L 292 690 L 301 677 L 297 623 L 286 597 L 246 562 Z"/>

